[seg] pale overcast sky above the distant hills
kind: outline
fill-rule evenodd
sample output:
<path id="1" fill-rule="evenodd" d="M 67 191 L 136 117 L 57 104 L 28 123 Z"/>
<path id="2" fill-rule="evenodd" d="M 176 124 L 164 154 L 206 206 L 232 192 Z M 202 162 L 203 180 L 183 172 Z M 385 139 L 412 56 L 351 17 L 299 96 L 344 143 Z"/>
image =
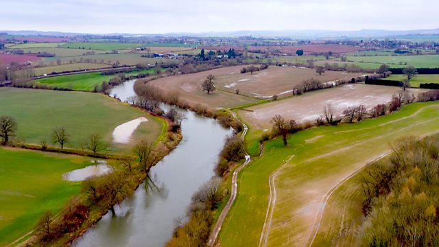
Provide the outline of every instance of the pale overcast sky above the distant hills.
<path id="1" fill-rule="evenodd" d="M 0 0 L 0 6 L 0 30 L 157 34 L 439 27 L 438 0 Z"/>

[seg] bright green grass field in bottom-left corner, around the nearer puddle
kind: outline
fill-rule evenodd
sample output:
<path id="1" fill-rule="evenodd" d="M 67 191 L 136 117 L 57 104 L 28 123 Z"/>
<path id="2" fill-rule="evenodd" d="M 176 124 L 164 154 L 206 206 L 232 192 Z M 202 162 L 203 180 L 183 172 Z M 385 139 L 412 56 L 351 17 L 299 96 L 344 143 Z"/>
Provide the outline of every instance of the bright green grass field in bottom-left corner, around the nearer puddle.
<path id="1" fill-rule="evenodd" d="M 0 148 L 0 246 L 32 230 L 45 211 L 54 214 L 80 183 L 62 174 L 91 165 L 90 158 Z"/>

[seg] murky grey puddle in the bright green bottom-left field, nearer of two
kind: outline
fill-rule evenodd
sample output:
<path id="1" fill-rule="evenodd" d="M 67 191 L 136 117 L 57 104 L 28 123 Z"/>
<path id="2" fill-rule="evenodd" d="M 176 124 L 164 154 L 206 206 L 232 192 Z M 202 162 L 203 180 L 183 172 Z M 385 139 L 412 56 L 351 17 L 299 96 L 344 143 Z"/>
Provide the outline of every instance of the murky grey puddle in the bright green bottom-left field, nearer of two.
<path id="1" fill-rule="evenodd" d="M 62 178 L 72 182 L 79 182 L 92 176 L 102 176 L 112 172 L 112 167 L 108 166 L 106 161 L 95 161 L 95 163 L 97 163 L 97 165 L 88 165 L 81 169 L 66 172 L 62 174 Z"/>

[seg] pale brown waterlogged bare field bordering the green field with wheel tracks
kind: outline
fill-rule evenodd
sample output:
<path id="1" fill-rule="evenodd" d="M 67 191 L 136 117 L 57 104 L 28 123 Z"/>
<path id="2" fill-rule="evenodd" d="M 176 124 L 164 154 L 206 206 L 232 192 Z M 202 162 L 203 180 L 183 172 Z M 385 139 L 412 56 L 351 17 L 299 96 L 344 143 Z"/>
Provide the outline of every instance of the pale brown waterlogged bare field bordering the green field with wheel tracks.
<path id="1" fill-rule="evenodd" d="M 268 104 L 252 106 L 240 110 L 239 115 L 246 123 L 257 128 L 269 128 L 270 120 L 275 115 L 296 121 L 314 121 L 323 115 L 324 106 L 331 104 L 335 115 L 342 115 L 349 106 L 364 105 L 372 108 L 377 104 L 390 102 L 392 95 L 401 89 L 396 86 L 377 86 L 365 84 L 346 84 L 333 89 L 324 89 L 304 95 L 278 100 Z M 418 93 L 419 89 L 409 89 L 409 92 Z"/>

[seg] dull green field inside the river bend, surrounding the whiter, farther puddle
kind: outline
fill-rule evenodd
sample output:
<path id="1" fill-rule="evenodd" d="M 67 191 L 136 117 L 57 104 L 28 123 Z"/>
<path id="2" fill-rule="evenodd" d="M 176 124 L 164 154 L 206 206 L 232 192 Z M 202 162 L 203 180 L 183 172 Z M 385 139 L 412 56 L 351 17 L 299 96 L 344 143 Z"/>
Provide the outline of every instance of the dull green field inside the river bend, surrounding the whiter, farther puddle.
<path id="1" fill-rule="evenodd" d="M 69 148 L 80 148 L 84 140 L 98 132 L 104 141 L 112 142 L 112 131 L 119 124 L 137 117 L 147 117 L 134 132 L 128 144 L 112 144 L 110 152 L 130 150 L 140 139 L 154 141 L 163 137 L 166 122 L 137 108 L 97 93 L 0 88 L 0 115 L 14 117 L 18 123 L 16 140 L 39 144 L 45 139 L 51 145 L 54 128 L 65 126 Z"/>

